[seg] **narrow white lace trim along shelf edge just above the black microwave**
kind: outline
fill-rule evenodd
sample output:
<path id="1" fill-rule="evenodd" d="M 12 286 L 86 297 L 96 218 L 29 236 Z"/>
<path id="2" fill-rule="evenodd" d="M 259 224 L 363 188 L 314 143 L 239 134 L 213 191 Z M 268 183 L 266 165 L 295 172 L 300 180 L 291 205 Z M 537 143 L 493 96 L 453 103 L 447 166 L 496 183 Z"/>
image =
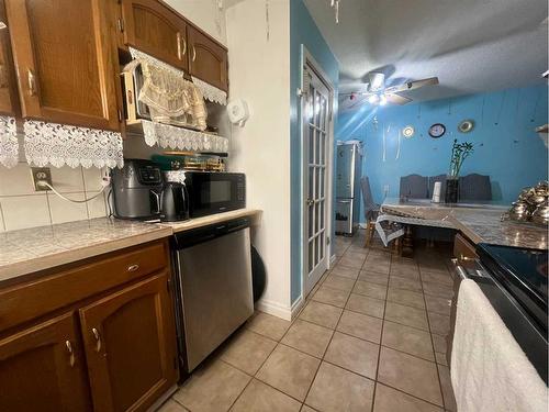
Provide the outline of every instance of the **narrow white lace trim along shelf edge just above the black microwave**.
<path id="1" fill-rule="evenodd" d="M 145 143 L 163 148 L 192 152 L 228 152 L 228 138 L 213 134 L 195 132 L 189 129 L 170 126 L 169 124 L 142 120 Z"/>

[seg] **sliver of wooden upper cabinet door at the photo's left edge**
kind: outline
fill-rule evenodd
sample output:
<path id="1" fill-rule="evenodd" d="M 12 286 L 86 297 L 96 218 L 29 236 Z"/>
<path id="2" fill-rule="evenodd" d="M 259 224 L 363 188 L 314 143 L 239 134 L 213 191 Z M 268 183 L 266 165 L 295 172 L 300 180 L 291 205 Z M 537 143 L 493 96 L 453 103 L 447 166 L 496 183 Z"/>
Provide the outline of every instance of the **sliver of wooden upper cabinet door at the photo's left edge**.
<path id="1" fill-rule="evenodd" d="M 0 21 L 8 24 L 3 0 L 0 0 Z M 9 26 L 0 29 L 0 114 L 15 115 L 19 112 L 13 58 Z"/>

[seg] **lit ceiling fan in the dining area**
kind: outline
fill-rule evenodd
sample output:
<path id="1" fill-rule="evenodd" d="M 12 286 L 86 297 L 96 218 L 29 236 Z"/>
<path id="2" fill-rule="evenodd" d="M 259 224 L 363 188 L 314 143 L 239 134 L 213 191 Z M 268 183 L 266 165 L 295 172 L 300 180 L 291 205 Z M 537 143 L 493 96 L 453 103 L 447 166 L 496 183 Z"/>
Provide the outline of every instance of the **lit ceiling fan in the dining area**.
<path id="1" fill-rule="evenodd" d="M 419 89 L 424 86 L 438 85 L 438 77 L 429 77 L 427 79 L 406 81 L 402 85 L 385 87 L 385 75 L 382 73 L 370 73 L 370 81 L 366 83 L 366 91 L 354 91 L 348 93 L 349 99 L 356 102 L 349 108 L 368 101 L 370 104 L 385 105 L 406 104 L 412 101 L 411 98 L 400 94 L 403 91 Z M 346 96 L 346 94 L 344 94 Z"/>

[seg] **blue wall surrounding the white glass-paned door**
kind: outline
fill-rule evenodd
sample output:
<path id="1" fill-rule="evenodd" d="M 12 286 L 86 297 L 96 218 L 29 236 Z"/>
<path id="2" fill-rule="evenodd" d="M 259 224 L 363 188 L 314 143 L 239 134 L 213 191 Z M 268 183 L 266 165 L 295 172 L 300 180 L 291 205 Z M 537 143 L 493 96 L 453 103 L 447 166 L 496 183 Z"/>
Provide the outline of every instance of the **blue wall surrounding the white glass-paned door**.
<path id="1" fill-rule="evenodd" d="M 309 51 L 336 88 L 339 81 L 339 64 L 316 27 L 309 10 L 302 0 L 290 0 L 290 170 L 291 170 L 291 301 L 301 296 L 302 274 L 302 166 L 301 166 L 301 108 L 296 89 L 301 86 L 301 48 Z M 337 112 L 336 112 L 337 113 Z M 335 119 L 336 121 L 337 119 Z M 334 226 L 334 225 L 333 225 Z M 334 233 L 332 233 L 334 238 Z"/>

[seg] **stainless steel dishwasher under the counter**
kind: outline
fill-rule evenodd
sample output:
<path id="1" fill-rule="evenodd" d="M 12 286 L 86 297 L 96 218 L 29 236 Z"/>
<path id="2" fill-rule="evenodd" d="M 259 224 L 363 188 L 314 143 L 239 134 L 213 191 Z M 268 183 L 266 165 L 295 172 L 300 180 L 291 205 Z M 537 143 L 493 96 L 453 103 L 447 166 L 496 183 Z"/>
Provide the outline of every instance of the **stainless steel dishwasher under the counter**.
<path id="1" fill-rule="evenodd" d="M 176 319 L 182 376 L 254 313 L 249 218 L 176 233 Z"/>

